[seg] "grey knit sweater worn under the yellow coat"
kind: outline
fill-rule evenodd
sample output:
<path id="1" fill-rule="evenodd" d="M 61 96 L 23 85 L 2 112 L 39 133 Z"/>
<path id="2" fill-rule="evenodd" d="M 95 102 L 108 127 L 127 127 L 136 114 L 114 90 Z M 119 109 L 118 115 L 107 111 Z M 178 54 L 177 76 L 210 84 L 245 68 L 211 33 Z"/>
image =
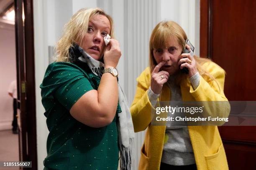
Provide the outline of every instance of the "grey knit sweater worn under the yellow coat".
<path id="1" fill-rule="evenodd" d="M 175 77 L 169 77 L 166 82 L 171 90 L 171 101 L 181 101 L 180 87 L 174 84 Z M 197 72 L 195 75 L 189 78 L 192 87 L 196 89 L 200 83 L 200 75 Z M 157 98 L 159 95 L 154 94 L 149 87 L 148 98 L 153 107 L 156 106 Z M 166 123 L 167 142 L 164 144 L 161 162 L 169 165 L 191 165 L 195 164 L 195 157 L 189 137 L 187 126 L 173 126 L 171 122 Z"/>

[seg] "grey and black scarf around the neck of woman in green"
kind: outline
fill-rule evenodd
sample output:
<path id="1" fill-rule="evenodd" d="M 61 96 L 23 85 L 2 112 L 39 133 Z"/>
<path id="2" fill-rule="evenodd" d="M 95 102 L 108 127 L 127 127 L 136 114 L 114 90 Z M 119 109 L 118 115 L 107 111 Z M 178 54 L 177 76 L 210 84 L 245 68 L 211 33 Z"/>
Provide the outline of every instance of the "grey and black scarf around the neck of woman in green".
<path id="1" fill-rule="evenodd" d="M 78 45 L 72 47 L 73 55 L 78 60 L 86 62 L 92 72 L 101 77 L 104 64 L 98 60 L 92 58 L 87 52 L 85 52 Z M 78 52 L 79 51 L 79 52 Z M 82 54 L 82 55 L 81 55 Z M 127 98 L 118 83 L 118 103 L 122 112 L 118 113 L 118 145 L 120 149 L 120 168 L 121 170 L 133 170 L 133 150 L 134 150 L 134 129 L 133 121 L 131 118 L 131 112 L 128 106 Z"/>

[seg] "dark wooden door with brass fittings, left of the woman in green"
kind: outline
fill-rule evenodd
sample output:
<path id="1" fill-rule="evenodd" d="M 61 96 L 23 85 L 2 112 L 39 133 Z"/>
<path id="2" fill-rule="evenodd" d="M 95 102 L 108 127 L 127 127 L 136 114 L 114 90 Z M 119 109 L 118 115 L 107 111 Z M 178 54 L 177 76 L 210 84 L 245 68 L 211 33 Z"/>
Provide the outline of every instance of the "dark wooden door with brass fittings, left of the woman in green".
<path id="1" fill-rule="evenodd" d="M 15 0 L 15 43 L 20 106 L 20 161 L 31 161 L 37 170 L 36 97 L 33 45 L 33 0 Z M 25 18 L 23 18 L 23 13 Z"/>

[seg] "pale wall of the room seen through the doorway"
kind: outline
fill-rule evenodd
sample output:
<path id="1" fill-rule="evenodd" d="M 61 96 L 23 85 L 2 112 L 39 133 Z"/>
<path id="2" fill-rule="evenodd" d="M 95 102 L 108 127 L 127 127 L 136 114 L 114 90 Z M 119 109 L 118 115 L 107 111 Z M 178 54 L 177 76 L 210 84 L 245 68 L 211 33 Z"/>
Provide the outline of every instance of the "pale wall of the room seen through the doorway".
<path id="1" fill-rule="evenodd" d="M 8 130 L 13 121 L 13 98 L 8 87 L 16 79 L 14 25 L 0 22 L 0 52 L 0 130 Z"/>

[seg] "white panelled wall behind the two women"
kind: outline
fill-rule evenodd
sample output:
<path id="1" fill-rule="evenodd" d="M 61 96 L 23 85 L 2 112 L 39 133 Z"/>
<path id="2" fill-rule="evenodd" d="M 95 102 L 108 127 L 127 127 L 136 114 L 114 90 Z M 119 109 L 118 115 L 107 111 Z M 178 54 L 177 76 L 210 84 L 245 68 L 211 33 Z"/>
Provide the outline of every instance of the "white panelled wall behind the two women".
<path id="1" fill-rule="evenodd" d="M 43 169 L 48 135 L 39 85 L 52 55 L 48 47 L 56 44 L 71 15 L 82 7 L 101 7 L 112 16 L 115 38 L 122 50 L 118 64 L 120 85 L 131 103 L 136 77 L 148 65 L 149 36 L 160 20 L 179 23 L 195 46 L 195 53 L 199 53 L 199 5 L 200 0 L 34 0 L 38 169 Z M 136 134 L 135 169 L 143 139 L 143 132 Z"/>

